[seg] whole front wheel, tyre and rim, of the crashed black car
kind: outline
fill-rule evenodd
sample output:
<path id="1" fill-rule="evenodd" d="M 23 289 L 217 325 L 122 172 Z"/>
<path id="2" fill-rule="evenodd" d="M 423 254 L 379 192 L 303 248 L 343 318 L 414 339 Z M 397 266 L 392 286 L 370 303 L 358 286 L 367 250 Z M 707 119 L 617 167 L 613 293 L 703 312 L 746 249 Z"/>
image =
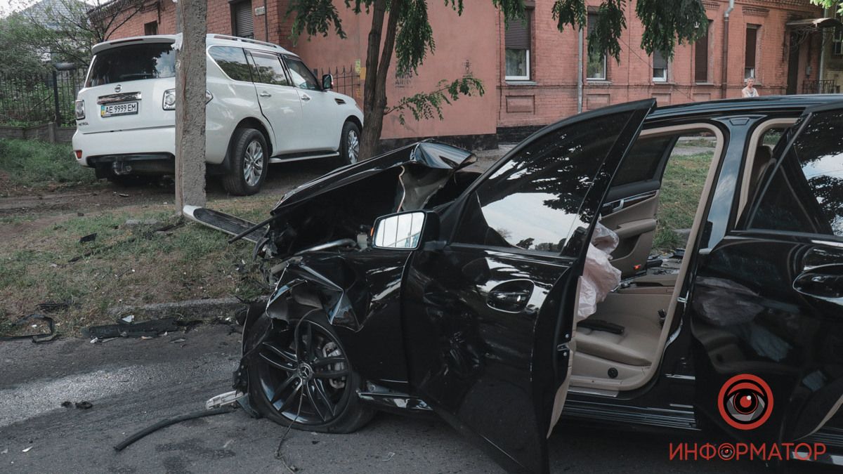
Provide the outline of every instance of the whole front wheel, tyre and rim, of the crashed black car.
<path id="1" fill-rule="evenodd" d="M 325 315 L 311 315 L 260 343 L 250 394 L 266 417 L 323 433 L 351 433 L 372 418 L 361 406 L 352 370 Z"/>

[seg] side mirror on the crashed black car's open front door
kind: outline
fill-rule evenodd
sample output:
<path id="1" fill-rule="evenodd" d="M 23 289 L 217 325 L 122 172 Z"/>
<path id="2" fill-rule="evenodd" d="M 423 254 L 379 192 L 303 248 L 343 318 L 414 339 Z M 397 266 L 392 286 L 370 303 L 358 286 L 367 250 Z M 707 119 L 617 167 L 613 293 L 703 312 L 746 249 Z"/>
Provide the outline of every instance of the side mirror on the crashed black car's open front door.
<path id="1" fill-rule="evenodd" d="M 439 216 L 430 211 L 389 214 L 374 221 L 372 246 L 379 249 L 416 250 L 439 234 Z"/>

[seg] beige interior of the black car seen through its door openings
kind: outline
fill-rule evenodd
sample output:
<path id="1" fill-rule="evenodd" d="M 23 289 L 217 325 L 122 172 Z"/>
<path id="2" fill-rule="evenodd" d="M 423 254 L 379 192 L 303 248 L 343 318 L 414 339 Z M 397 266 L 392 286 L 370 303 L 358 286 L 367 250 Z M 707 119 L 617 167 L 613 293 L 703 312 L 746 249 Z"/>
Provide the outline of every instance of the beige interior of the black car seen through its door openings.
<path id="1" fill-rule="evenodd" d="M 771 164 L 776 139 L 792 122 L 767 121 L 750 137 L 744 197 L 752 196 L 753 186 Z M 687 242 L 695 241 L 714 181 L 716 167 L 711 164 L 719 161 L 723 143 L 722 132 L 705 123 L 645 130 L 620 164 L 600 222 L 620 240 L 611 264 L 620 270 L 621 283 L 574 330 L 572 391 L 612 395 L 639 388 L 656 373 L 679 297 L 677 282 L 683 281 L 689 263 L 682 258 L 685 249 L 658 248 L 669 242 L 657 238 L 658 216 L 665 211 L 684 213 L 685 222 L 693 223 L 684 232 Z M 695 166 L 703 168 L 698 172 L 705 173 L 706 180 L 696 182 L 697 188 L 689 177 L 671 174 L 671 166 L 683 159 L 694 159 Z M 695 209 L 678 204 L 679 193 L 689 189 L 701 192 Z"/>

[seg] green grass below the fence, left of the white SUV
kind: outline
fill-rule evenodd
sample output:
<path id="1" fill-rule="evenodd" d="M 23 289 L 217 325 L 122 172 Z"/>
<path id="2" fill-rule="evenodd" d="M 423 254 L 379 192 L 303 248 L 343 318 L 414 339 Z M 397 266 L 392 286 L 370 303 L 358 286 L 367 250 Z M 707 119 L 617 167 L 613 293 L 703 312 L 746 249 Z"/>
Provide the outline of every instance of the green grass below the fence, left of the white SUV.
<path id="1" fill-rule="evenodd" d="M 69 143 L 0 139 L 0 193 L 8 194 L 14 188 L 90 185 L 96 181 L 94 170 L 76 163 Z"/>

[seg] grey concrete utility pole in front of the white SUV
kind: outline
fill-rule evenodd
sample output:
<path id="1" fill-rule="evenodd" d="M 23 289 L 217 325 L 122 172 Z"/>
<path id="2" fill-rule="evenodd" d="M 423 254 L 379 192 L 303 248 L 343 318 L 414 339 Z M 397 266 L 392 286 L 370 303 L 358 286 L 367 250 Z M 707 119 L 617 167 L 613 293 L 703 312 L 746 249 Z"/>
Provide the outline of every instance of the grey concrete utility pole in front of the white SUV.
<path id="1" fill-rule="evenodd" d="M 175 207 L 178 213 L 185 205 L 205 206 L 206 15 L 206 0 L 177 0 L 176 31 L 181 33 L 181 45 L 175 55 Z"/>

